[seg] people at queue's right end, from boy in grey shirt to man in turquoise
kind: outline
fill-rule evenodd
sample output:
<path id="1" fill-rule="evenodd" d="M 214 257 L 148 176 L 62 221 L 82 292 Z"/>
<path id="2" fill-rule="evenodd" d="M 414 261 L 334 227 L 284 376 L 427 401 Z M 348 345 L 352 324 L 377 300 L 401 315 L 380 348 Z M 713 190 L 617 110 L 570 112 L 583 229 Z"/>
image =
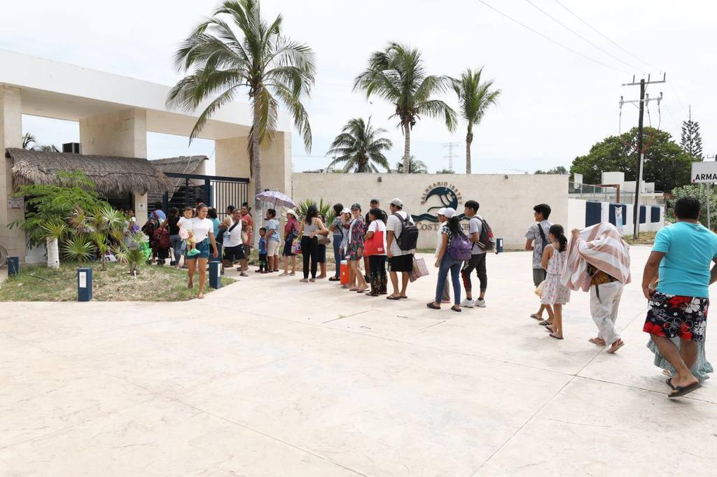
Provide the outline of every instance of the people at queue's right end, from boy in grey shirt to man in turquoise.
<path id="1" fill-rule="evenodd" d="M 676 222 L 657 232 L 642 275 L 648 301 L 643 331 L 650 334 L 647 347 L 655 353 L 655 365 L 668 376 L 668 397 L 698 389 L 713 371 L 704 343 L 708 286 L 717 281 L 717 236 L 699 223 L 700 208 L 697 198 L 676 201 Z M 549 205 L 538 204 L 533 213 L 536 223 L 526 232 L 526 250 L 533 251 L 533 284 L 541 299 L 531 318 L 551 337 L 563 339 L 562 308 L 571 291 L 589 291 L 598 330 L 589 342 L 617 352 L 625 345 L 615 322 L 622 291 L 631 281 L 630 246 L 611 223 L 575 229 L 568 241 L 564 228 L 549 222 Z"/>

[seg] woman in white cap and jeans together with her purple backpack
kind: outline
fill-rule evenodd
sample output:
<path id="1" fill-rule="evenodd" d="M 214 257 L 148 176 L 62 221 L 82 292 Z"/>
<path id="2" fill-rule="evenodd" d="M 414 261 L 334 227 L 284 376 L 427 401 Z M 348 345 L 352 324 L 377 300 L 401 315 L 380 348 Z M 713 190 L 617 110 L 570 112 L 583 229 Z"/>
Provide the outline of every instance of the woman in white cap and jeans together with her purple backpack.
<path id="1" fill-rule="evenodd" d="M 435 266 L 438 269 L 436 297 L 426 306 L 431 309 L 441 308 L 442 294 L 450 271 L 454 298 L 451 309 L 454 312 L 460 312 L 460 269 L 464 261 L 470 260 L 473 244 L 463 233 L 460 227 L 460 218 L 454 208 L 443 209 L 443 216 L 447 221 L 441 227 L 442 241 L 436 256 Z"/>

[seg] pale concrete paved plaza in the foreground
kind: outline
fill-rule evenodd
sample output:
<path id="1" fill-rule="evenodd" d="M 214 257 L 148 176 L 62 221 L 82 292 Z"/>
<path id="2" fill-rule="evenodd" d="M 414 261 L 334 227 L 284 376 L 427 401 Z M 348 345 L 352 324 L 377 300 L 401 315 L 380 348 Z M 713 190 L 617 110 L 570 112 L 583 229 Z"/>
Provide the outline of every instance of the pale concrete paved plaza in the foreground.
<path id="1" fill-rule="evenodd" d="M 488 307 L 460 314 L 425 306 L 435 269 L 400 302 L 252 273 L 191 302 L 2 303 L 0 474 L 713 473 L 717 381 L 666 397 L 648 253 L 616 355 L 587 341 L 588 294 L 563 341 L 528 317 L 526 252 L 489 256 Z"/>

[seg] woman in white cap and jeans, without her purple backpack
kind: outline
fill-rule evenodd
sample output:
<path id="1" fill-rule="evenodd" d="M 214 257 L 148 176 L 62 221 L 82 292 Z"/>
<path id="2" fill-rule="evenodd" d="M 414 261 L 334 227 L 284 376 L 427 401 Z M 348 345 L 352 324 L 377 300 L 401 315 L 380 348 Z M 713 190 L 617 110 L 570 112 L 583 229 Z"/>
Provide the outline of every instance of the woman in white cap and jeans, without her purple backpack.
<path id="1" fill-rule="evenodd" d="M 450 271 L 453 284 L 453 306 L 451 309 L 454 312 L 460 312 L 460 269 L 463 266 L 463 261 L 450 256 L 449 249 L 452 241 L 465 237 L 465 234 L 460 227 L 460 218 L 454 208 L 445 208 L 443 216 L 445 216 L 447 221 L 443 223 L 441 228 L 442 242 L 436 256 L 435 266 L 438 269 L 436 296 L 432 302 L 427 304 L 427 307 L 441 309 L 441 298 L 448 278 L 448 272 Z"/>

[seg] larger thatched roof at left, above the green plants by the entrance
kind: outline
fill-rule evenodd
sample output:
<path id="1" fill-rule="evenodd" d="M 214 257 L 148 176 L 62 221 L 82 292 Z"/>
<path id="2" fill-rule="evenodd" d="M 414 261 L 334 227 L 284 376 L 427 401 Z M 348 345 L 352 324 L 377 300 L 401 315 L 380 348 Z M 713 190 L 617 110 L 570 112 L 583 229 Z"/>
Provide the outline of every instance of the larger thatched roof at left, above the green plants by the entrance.
<path id="1" fill-rule="evenodd" d="M 166 175 L 146 159 L 17 148 L 6 149 L 5 155 L 12 159 L 12 179 L 15 186 L 54 184 L 57 183 L 57 172 L 82 170 L 95 183 L 98 192 L 147 193 L 173 190 Z"/>

